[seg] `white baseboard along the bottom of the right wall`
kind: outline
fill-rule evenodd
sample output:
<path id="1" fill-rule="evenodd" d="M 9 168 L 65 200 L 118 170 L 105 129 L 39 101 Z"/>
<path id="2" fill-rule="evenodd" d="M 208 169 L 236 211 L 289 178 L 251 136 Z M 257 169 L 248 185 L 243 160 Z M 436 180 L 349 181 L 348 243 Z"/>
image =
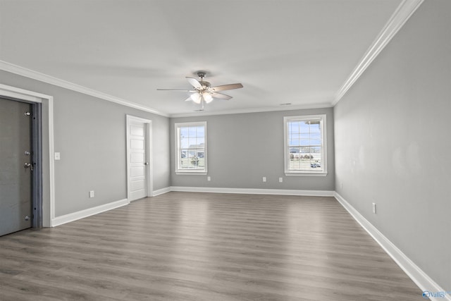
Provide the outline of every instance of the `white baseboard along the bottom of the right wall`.
<path id="1" fill-rule="evenodd" d="M 344 207 L 351 216 L 357 221 L 357 223 L 362 226 L 362 228 L 365 229 L 366 232 L 371 235 L 371 237 L 378 242 L 379 245 L 387 252 L 387 254 L 392 257 L 392 259 L 397 263 L 398 266 L 404 271 L 409 278 L 414 281 L 416 285 L 425 293 L 438 293 L 438 292 L 446 292 L 443 290 L 443 288 L 440 288 L 440 285 L 435 283 L 431 277 L 429 277 L 424 271 L 422 271 L 419 266 L 414 264 L 412 260 L 409 259 L 403 252 L 401 252 L 400 249 L 398 249 L 395 245 L 393 245 L 393 242 L 390 242 L 388 238 L 386 238 L 378 229 L 373 226 L 367 219 L 362 216 L 362 214 L 359 214 L 359 211 L 357 211 L 350 203 L 348 203 L 341 195 L 339 195 L 337 192 L 334 193 L 335 199 L 342 204 L 342 207 Z M 429 296 L 429 299 L 431 300 L 448 300 L 451 301 L 451 292 L 445 293 L 443 297 L 433 297 L 433 295 Z M 419 296 L 420 297 L 420 296 Z M 419 300 L 421 300 L 419 298 Z"/>

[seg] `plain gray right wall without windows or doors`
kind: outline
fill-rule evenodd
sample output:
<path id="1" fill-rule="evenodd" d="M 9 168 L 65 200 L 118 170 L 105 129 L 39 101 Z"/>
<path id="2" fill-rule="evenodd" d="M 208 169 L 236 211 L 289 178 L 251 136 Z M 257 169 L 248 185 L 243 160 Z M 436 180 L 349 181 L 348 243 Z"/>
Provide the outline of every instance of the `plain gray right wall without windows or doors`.
<path id="1" fill-rule="evenodd" d="M 336 191 L 445 290 L 450 30 L 451 1 L 424 1 L 334 109 Z"/>

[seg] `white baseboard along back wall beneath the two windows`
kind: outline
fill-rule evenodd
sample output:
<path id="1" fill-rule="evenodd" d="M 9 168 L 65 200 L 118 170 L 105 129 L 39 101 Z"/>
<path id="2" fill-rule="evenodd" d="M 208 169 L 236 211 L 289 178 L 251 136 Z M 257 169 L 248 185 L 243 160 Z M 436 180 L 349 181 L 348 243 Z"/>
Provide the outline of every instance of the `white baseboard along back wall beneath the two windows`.
<path id="1" fill-rule="evenodd" d="M 334 196 L 334 191 L 329 191 L 329 190 L 288 190 L 288 189 L 209 188 L 209 187 L 171 186 L 170 191 L 245 193 L 245 194 L 249 194 L 249 195 L 305 195 L 305 196 L 317 196 L 317 197 L 333 197 Z"/>

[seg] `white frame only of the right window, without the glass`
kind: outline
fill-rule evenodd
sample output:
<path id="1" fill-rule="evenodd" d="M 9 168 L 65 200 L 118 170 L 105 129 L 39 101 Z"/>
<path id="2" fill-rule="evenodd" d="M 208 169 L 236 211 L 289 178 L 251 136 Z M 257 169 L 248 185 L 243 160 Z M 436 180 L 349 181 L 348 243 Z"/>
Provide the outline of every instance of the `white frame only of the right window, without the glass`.
<path id="1" fill-rule="evenodd" d="M 323 169 L 321 171 L 293 171 L 289 169 L 288 156 L 290 154 L 290 146 L 288 145 L 288 123 L 290 121 L 309 121 L 319 120 L 321 123 L 321 142 L 323 145 Z M 285 168 L 285 176 L 327 176 L 327 126 L 326 114 L 306 115 L 306 116 L 285 116 L 283 117 L 283 160 Z"/>

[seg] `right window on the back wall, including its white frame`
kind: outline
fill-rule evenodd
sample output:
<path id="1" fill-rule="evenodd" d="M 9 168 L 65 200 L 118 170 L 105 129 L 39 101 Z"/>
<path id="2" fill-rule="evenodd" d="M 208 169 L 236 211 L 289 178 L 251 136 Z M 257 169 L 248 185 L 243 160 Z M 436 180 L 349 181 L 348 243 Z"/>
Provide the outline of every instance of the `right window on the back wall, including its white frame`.
<path id="1" fill-rule="evenodd" d="M 326 115 L 288 116 L 285 125 L 285 175 L 326 176 Z"/>

